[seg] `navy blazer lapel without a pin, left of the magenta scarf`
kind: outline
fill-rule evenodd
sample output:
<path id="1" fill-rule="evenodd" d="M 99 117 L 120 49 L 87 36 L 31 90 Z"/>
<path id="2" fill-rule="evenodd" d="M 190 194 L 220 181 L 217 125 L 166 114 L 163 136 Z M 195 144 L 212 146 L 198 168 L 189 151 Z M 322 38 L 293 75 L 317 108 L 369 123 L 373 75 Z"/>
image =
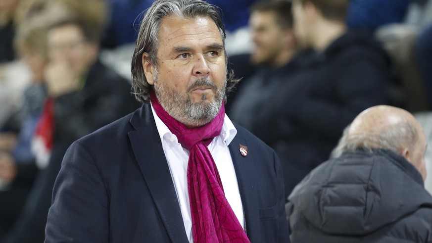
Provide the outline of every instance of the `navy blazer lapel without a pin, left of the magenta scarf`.
<path id="1" fill-rule="evenodd" d="M 144 104 L 130 122 L 136 129 L 128 134 L 132 150 L 171 241 L 188 242 L 177 194 L 150 106 Z"/>

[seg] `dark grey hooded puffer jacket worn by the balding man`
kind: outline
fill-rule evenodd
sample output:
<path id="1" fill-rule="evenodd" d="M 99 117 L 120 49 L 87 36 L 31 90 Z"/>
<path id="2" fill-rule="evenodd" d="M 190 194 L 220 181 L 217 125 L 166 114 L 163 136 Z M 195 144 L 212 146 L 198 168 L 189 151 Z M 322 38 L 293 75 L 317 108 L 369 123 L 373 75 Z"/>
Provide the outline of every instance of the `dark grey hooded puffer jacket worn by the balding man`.
<path id="1" fill-rule="evenodd" d="M 432 196 L 420 173 L 388 150 L 331 159 L 288 199 L 292 243 L 432 242 Z"/>

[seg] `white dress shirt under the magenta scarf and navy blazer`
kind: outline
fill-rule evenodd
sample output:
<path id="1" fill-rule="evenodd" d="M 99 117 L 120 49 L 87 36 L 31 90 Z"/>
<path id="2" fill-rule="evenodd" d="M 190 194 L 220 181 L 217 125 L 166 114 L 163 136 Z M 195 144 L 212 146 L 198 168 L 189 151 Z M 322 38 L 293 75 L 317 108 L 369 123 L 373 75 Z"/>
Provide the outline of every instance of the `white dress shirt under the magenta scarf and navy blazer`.
<path id="1" fill-rule="evenodd" d="M 189 150 L 179 144 L 177 137 L 171 133 L 168 127 L 157 116 L 153 106 L 151 106 L 151 111 L 153 112 L 157 131 L 159 132 L 160 140 L 162 142 L 163 151 L 168 161 L 168 167 L 170 169 L 171 178 L 174 183 L 183 222 L 185 224 L 186 235 L 188 236 L 189 242 L 193 243 L 192 218 L 191 208 L 189 205 L 187 178 Z M 225 197 L 239 219 L 240 225 L 244 229 L 243 206 L 240 198 L 239 185 L 237 183 L 233 159 L 231 158 L 231 153 L 228 149 L 228 145 L 233 141 L 236 134 L 237 129 L 225 114 L 221 134 L 213 139 L 213 141 L 208 145 L 208 149 L 210 150 L 219 171 Z"/>

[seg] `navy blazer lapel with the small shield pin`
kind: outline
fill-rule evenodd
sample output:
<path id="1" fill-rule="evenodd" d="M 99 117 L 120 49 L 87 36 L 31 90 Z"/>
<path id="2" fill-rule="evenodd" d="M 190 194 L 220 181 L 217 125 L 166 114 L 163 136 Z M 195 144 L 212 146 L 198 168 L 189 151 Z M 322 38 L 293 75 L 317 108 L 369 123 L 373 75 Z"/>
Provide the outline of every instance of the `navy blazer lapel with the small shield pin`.
<path id="1" fill-rule="evenodd" d="M 254 235 L 260 232 L 258 197 L 256 194 L 256 180 L 254 180 L 257 177 L 253 166 L 253 151 L 247 151 L 247 156 L 243 156 L 240 152 L 240 145 L 247 146 L 247 141 L 237 135 L 230 143 L 229 148 L 239 183 L 247 237 L 250 241 L 253 241 L 255 239 Z"/>

